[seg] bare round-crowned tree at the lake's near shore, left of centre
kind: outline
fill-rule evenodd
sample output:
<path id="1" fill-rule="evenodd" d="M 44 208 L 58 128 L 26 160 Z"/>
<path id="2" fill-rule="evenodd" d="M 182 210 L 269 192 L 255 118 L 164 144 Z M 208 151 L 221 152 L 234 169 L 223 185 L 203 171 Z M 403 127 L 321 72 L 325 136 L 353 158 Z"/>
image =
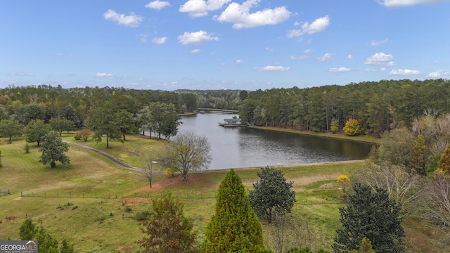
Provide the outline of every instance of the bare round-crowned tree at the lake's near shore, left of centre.
<path id="1" fill-rule="evenodd" d="M 210 143 L 205 136 L 184 132 L 167 143 L 160 161 L 164 167 L 180 171 L 183 180 L 187 181 L 189 171 L 208 169 L 211 163 L 210 150 Z"/>

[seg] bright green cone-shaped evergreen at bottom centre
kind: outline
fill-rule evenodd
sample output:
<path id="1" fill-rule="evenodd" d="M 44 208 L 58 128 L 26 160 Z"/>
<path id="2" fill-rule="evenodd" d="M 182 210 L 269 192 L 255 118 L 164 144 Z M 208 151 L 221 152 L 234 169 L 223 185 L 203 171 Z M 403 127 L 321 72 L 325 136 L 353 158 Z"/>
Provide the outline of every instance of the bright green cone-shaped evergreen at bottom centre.
<path id="1" fill-rule="evenodd" d="M 264 249 L 261 223 L 233 169 L 221 181 L 215 214 L 207 225 L 205 237 L 203 252 L 257 252 Z"/>

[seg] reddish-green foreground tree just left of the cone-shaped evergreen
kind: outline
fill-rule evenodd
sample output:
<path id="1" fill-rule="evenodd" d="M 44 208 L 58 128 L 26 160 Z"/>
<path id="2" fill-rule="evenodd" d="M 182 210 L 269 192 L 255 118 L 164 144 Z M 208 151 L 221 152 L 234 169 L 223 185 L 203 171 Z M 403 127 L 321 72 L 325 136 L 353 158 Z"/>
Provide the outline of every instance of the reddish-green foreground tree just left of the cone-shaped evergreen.
<path id="1" fill-rule="evenodd" d="M 136 242 L 143 252 L 195 252 L 196 232 L 191 219 L 184 216 L 183 206 L 170 194 L 152 201 L 153 211 L 141 228 L 144 238 Z"/>

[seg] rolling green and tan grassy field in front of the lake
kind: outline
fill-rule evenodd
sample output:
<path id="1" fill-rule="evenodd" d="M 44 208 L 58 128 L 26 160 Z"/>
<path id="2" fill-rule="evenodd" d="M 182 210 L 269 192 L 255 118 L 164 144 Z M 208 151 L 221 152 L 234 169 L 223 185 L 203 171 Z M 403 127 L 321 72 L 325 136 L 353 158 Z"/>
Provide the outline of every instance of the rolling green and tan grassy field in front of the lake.
<path id="1" fill-rule="evenodd" d="M 148 137 L 127 136 L 127 141 L 75 141 L 75 134 L 63 138 L 119 157 L 136 167 L 139 156 L 155 154 L 165 141 Z M 0 197 L 0 240 L 18 239 L 18 228 L 30 217 L 41 222 L 58 240 L 68 238 L 77 252 L 136 252 L 134 241 L 142 238 L 136 217 L 150 209 L 152 198 L 171 192 L 184 202 L 186 216 L 191 217 L 199 231 L 198 241 L 204 237 L 205 226 L 214 213 L 215 196 L 226 171 L 203 171 L 188 175 L 166 177 L 158 174 L 153 188 L 136 171 L 118 167 L 94 152 L 74 146 L 68 153 L 71 163 L 51 169 L 39 163 L 36 144 L 30 153 L 24 150 L 24 138 L 7 144 L 0 141 L 0 191 L 11 195 Z M 335 229 L 340 226 L 338 207 L 342 191 L 335 183 L 341 174 L 351 176 L 361 162 L 321 164 L 280 168 L 285 178 L 293 181 L 296 202 L 293 216 L 307 219 L 315 231 L 321 231 L 323 243 L 330 246 Z M 257 181 L 257 169 L 236 170 L 246 188 Z M 404 223 L 409 245 L 417 252 L 444 252 L 450 249 L 439 244 L 439 232 L 419 221 Z M 265 228 L 265 226 L 264 226 Z M 264 229 L 263 228 L 263 229 Z M 423 244 L 423 245 L 421 245 Z M 432 246 L 430 246 L 432 245 Z M 430 248 L 431 247 L 431 248 Z M 427 251 L 425 249 L 430 249 Z"/>

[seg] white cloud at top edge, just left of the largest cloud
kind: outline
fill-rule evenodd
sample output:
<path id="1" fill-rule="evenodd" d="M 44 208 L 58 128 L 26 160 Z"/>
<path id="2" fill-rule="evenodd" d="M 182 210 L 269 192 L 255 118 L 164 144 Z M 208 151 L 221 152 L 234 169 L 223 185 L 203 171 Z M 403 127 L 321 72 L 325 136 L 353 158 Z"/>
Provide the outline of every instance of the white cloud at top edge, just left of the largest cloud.
<path id="1" fill-rule="evenodd" d="M 208 15 L 209 11 L 215 11 L 231 0 L 188 0 L 179 8 L 179 12 L 189 13 L 193 18 Z"/>

